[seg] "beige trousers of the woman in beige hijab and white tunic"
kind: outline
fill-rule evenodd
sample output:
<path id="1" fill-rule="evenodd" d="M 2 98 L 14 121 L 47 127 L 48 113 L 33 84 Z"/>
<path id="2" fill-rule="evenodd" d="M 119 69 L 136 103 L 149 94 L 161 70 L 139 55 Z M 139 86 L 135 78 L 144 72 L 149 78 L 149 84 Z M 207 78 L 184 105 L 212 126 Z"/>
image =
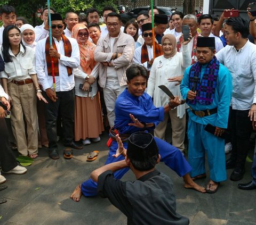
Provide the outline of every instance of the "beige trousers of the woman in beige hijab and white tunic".
<path id="1" fill-rule="evenodd" d="M 165 139 L 165 130 L 168 122 L 168 116 L 170 116 L 172 124 L 172 145 L 179 148 L 183 153 L 184 151 L 184 139 L 186 132 L 186 113 L 183 118 L 177 116 L 177 108 L 170 110 L 164 114 L 164 120 L 158 124 L 154 130 L 155 137 Z"/>

